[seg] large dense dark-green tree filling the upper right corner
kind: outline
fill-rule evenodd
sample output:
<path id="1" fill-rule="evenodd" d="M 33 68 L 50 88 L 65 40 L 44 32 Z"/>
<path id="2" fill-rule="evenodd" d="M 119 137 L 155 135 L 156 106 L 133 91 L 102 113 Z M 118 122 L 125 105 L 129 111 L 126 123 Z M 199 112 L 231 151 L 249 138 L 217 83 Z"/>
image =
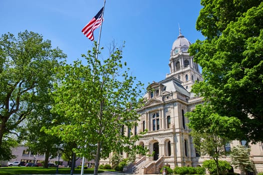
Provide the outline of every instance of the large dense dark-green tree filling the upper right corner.
<path id="1" fill-rule="evenodd" d="M 235 116 L 245 134 L 263 138 L 263 2 L 201 0 L 196 28 L 206 39 L 190 46 L 204 81 L 193 85 L 221 116 Z"/>

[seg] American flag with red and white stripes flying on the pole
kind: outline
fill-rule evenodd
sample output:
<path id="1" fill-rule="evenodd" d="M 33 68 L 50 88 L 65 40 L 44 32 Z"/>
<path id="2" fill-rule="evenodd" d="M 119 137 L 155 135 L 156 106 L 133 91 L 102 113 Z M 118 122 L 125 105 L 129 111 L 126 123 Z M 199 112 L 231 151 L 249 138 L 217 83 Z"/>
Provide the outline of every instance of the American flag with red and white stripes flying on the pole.
<path id="1" fill-rule="evenodd" d="M 93 31 L 98 28 L 102 21 L 102 12 L 103 7 L 101 10 L 91 19 L 91 21 L 85 25 L 85 27 L 81 30 L 85 36 L 87 36 L 90 40 L 94 40 Z"/>

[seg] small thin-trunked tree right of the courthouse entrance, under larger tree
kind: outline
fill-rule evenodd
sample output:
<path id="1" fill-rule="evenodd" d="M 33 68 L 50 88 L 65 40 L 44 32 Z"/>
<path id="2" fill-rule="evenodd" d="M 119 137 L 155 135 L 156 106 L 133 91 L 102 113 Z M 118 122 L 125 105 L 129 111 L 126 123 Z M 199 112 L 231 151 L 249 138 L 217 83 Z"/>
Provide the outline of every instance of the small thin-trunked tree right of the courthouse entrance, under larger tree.
<path id="1" fill-rule="evenodd" d="M 219 157 L 225 155 L 226 143 L 239 134 L 236 129 L 240 120 L 236 117 L 220 116 L 210 103 L 196 105 L 193 112 L 187 112 L 189 128 L 196 150 L 213 158 L 219 175 Z"/>

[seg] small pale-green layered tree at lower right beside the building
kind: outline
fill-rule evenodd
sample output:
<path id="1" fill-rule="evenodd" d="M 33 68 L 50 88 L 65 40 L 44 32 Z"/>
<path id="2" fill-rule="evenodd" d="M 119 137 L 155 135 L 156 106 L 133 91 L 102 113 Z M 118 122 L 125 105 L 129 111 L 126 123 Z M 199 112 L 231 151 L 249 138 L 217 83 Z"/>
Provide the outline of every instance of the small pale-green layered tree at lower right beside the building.
<path id="1" fill-rule="evenodd" d="M 231 164 L 234 165 L 235 168 L 240 168 L 241 172 L 245 172 L 248 174 L 248 171 L 253 171 L 252 169 L 252 161 L 249 158 L 250 155 L 250 147 L 245 147 L 243 145 L 234 146 L 231 150 Z"/>

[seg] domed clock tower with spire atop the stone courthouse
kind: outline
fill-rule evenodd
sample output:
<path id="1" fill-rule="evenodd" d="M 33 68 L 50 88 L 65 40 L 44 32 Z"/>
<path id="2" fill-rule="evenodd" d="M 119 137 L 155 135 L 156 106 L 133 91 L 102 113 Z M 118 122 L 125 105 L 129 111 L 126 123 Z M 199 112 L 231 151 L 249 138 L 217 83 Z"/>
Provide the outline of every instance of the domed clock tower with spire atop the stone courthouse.
<path id="1" fill-rule="evenodd" d="M 169 59 L 170 73 L 167 77 L 174 76 L 182 81 L 182 85 L 188 91 L 197 80 L 203 80 L 199 70 L 199 65 L 193 61 L 193 56 L 188 53 L 191 42 L 182 35 L 179 29 L 179 36 L 173 42 Z"/>

